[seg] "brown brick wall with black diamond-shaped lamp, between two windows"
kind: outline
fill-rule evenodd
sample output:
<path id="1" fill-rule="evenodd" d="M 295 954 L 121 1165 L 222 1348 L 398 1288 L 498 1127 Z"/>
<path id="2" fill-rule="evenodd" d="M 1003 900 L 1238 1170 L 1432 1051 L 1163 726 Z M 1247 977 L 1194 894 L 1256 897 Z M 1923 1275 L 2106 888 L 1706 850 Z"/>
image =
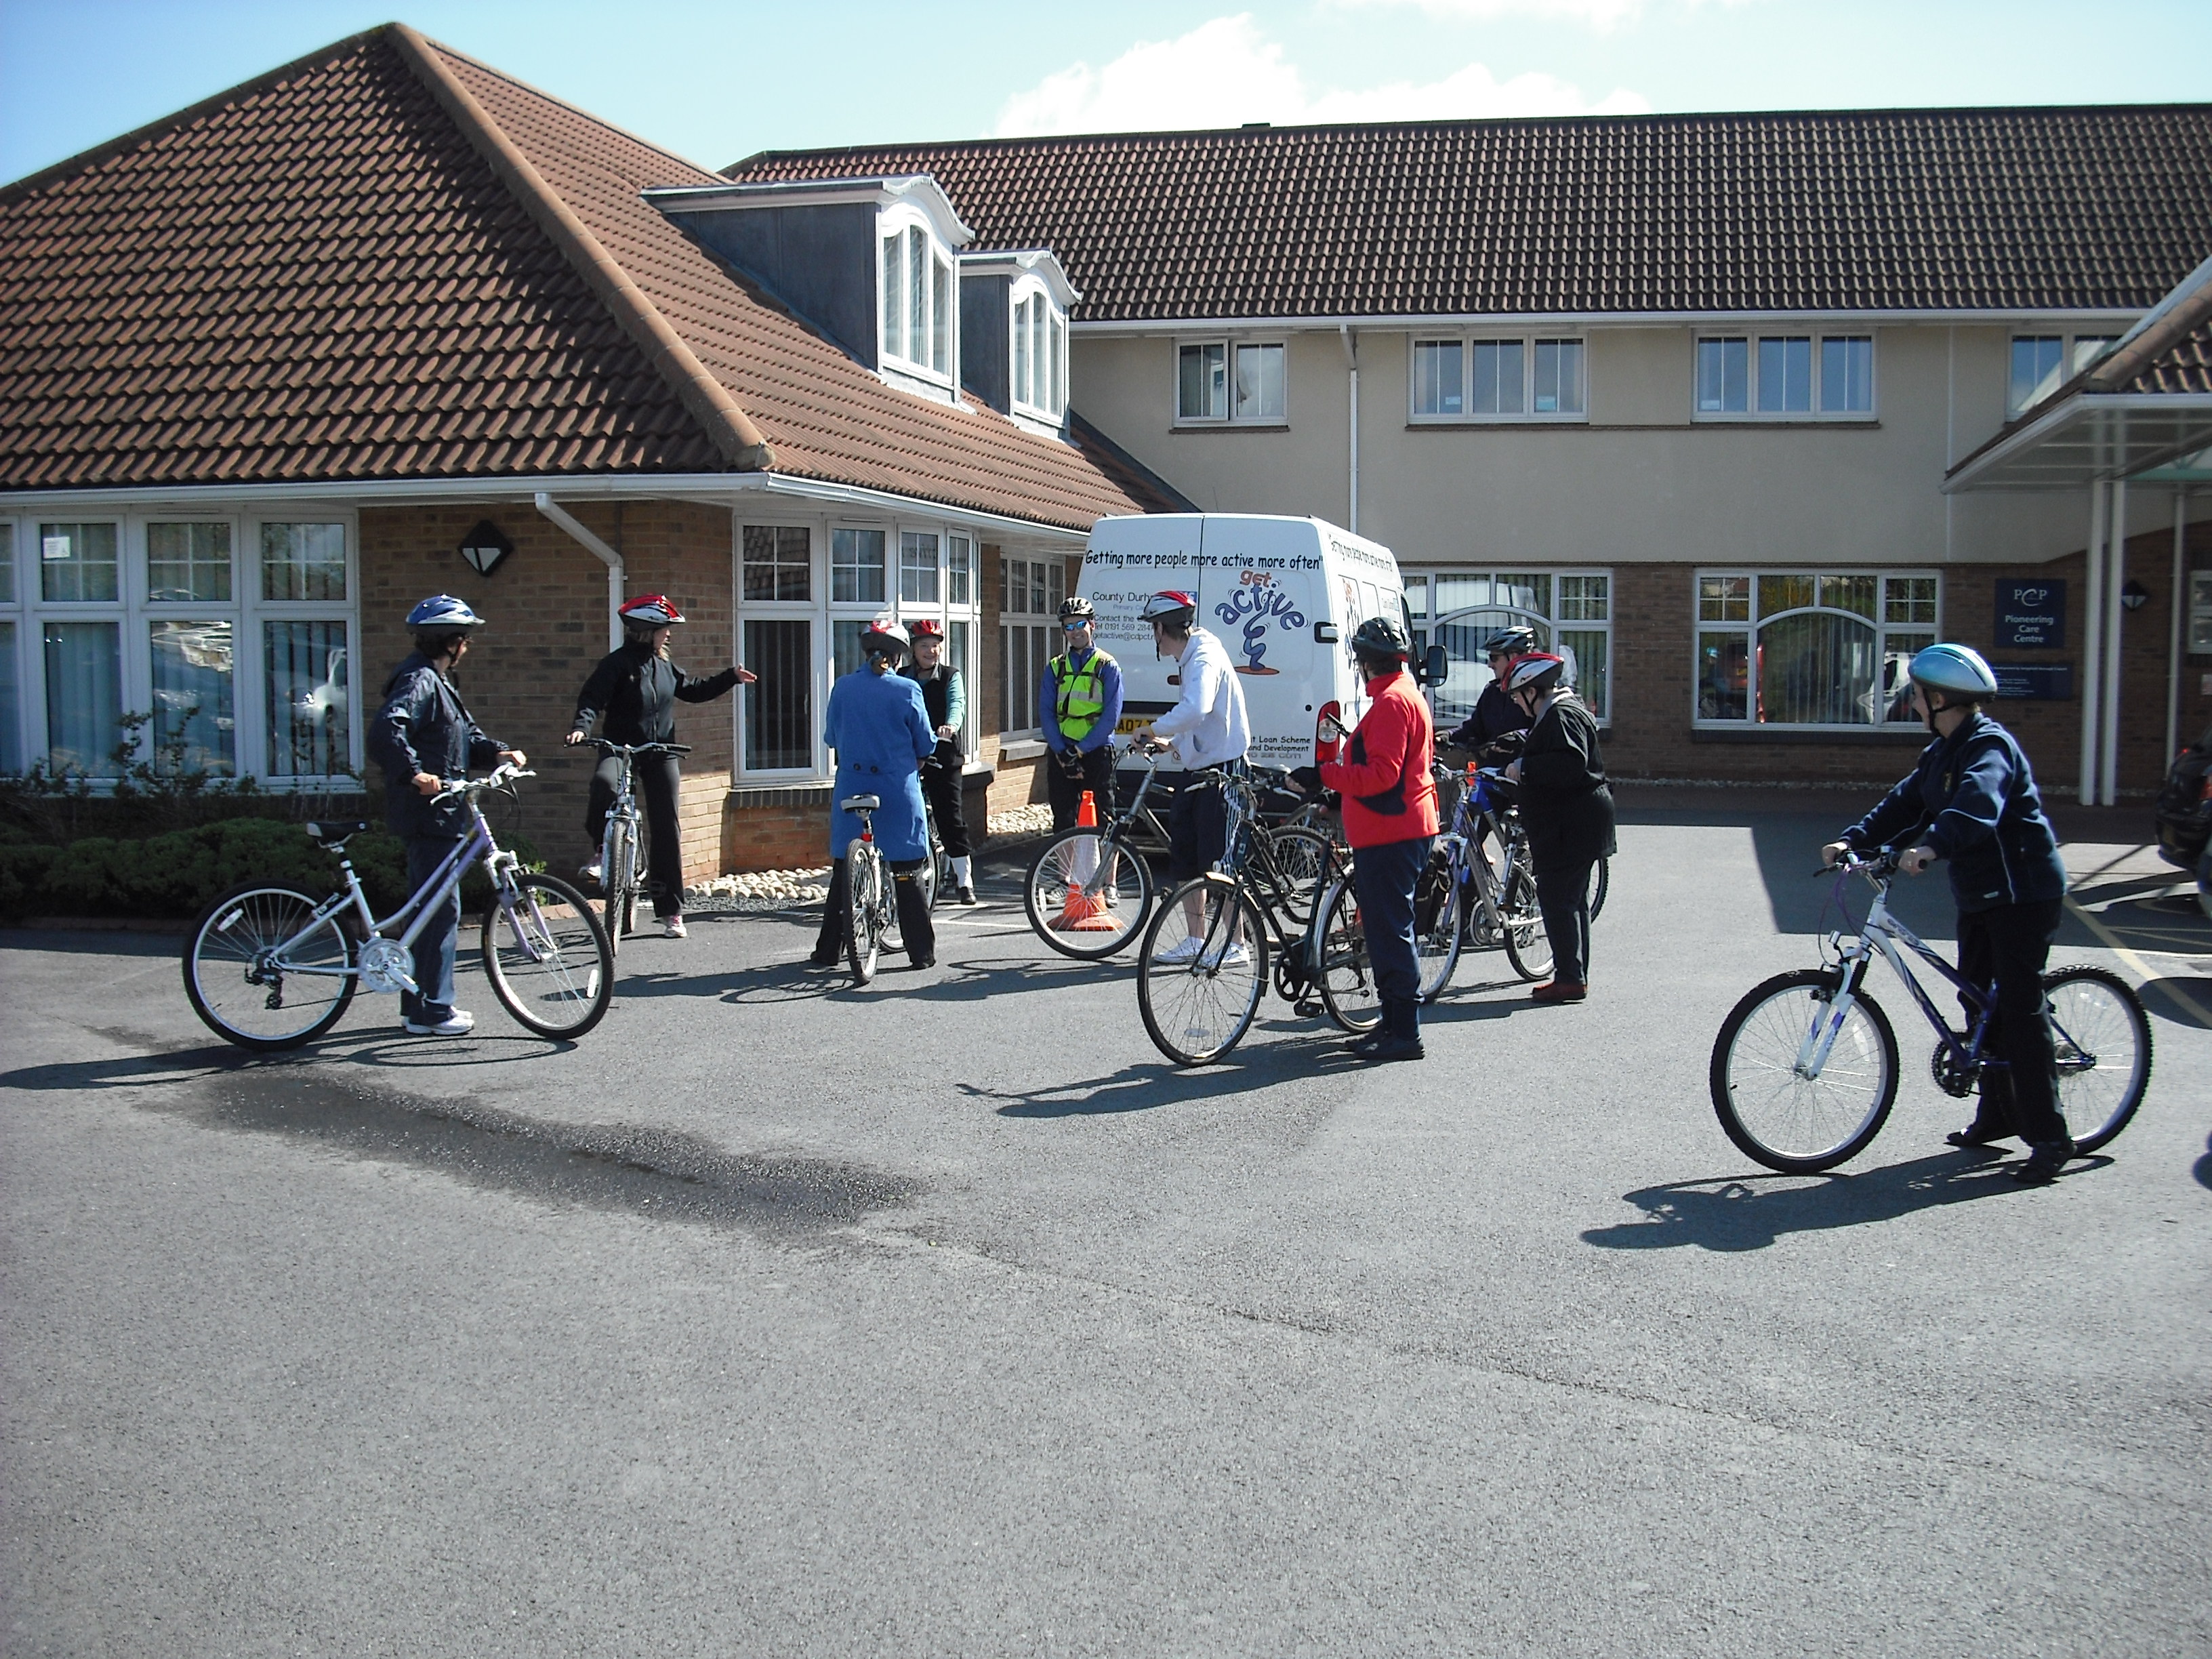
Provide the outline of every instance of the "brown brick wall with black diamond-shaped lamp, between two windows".
<path id="1" fill-rule="evenodd" d="M 688 622 L 675 659 L 710 675 L 730 661 L 730 513 L 690 502 L 575 504 L 575 513 L 624 555 L 626 591 L 666 593 Z M 489 575 L 471 571 L 462 535 L 489 518 L 515 551 Z M 429 593 L 467 599 L 491 626 L 462 664 L 458 686 L 478 723 L 524 748 L 538 776 L 524 783 L 520 830 L 555 869 L 591 847 L 584 790 L 597 757 L 562 748 L 575 697 L 606 655 L 606 566 L 529 504 L 372 507 L 361 511 L 363 701 L 407 655 L 407 611 Z M 732 703 L 684 703 L 684 876 L 723 869 L 723 803 L 732 768 Z"/>

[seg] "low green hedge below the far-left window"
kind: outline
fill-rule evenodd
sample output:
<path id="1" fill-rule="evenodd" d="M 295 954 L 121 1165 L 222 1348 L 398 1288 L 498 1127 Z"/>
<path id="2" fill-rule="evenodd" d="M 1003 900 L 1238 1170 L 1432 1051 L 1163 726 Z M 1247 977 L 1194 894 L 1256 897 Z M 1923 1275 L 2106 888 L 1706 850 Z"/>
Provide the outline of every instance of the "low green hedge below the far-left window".
<path id="1" fill-rule="evenodd" d="M 509 836 L 507 847 L 524 865 L 544 867 L 526 838 Z M 398 909 L 407 898 L 407 843 L 376 830 L 354 836 L 345 852 L 376 914 Z M 338 885 L 338 860 L 296 823 L 272 818 L 228 818 L 144 841 L 88 836 L 66 847 L 0 838 L 0 914 L 7 916 L 190 918 L 241 880 L 327 894 Z M 491 883 L 482 869 L 471 869 L 460 885 L 462 907 L 473 914 L 489 898 Z"/>

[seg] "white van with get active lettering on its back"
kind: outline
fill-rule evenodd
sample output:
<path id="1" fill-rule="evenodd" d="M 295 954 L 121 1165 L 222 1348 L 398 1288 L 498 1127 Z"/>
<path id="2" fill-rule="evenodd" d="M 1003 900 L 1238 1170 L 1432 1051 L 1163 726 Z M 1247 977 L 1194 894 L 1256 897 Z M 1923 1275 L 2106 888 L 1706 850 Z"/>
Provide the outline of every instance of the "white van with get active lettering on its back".
<path id="1" fill-rule="evenodd" d="M 1152 653 L 1152 626 L 1139 617 L 1168 588 L 1194 595 L 1197 626 L 1228 646 L 1252 721 L 1252 761 L 1263 765 L 1312 765 L 1323 714 L 1358 723 L 1367 692 L 1345 646 L 1354 628 L 1367 617 L 1407 628 L 1391 551 L 1318 518 L 1102 518 L 1077 593 L 1097 606 L 1097 641 L 1121 664 L 1124 734 L 1166 714 L 1179 695 L 1175 664 Z"/>

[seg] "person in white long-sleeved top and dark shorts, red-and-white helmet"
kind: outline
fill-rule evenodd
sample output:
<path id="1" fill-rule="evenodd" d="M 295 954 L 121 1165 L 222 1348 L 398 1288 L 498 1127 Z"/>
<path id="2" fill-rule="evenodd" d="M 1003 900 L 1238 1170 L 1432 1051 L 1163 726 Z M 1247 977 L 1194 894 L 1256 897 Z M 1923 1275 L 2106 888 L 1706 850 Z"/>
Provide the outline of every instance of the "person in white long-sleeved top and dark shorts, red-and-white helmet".
<path id="1" fill-rule="evenodd" d="M 1243 686 L 1230 653 L 1206 628 L 1192 626 L 1199 602 L 1188 593 L 1155 593 L 1144 602 L 1144 619 L 1152 624 L 1152 648 L 1175 657 L 1181 699 L 1139 732 L 1150 748 L 1175 748 L 1177 759 L 1197 770 L 1221 765 L 1241 770 L 1252 745 L 1252 723 L 1245 717 Z M 1175 792 L 1168 810 L 1168 883 L 1203 876 L 1228 845 L 1228 812 L 1219 783 L 1194 783 Z M 1183 900 L 1188 938 L 1159 953 L 1164 962 L 1186 962 L 1201 949 L 1206 931 L 1203 900 Z M 1230 945 L 1230 956 L 1248 949 Z"/>

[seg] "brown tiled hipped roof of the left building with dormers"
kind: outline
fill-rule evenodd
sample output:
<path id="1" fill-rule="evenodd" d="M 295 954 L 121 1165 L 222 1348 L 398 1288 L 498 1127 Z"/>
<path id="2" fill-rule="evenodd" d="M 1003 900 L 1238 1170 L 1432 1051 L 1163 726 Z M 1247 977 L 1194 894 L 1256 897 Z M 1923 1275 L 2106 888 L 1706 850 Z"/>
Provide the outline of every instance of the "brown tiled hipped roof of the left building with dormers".
<path id="1" fill-rule="evenodd" d="M 0 489 L 772 467 L 1168 504 L 887 387 L 639 190 L 714 175 L 403 24 L 0 190 Z"/>

